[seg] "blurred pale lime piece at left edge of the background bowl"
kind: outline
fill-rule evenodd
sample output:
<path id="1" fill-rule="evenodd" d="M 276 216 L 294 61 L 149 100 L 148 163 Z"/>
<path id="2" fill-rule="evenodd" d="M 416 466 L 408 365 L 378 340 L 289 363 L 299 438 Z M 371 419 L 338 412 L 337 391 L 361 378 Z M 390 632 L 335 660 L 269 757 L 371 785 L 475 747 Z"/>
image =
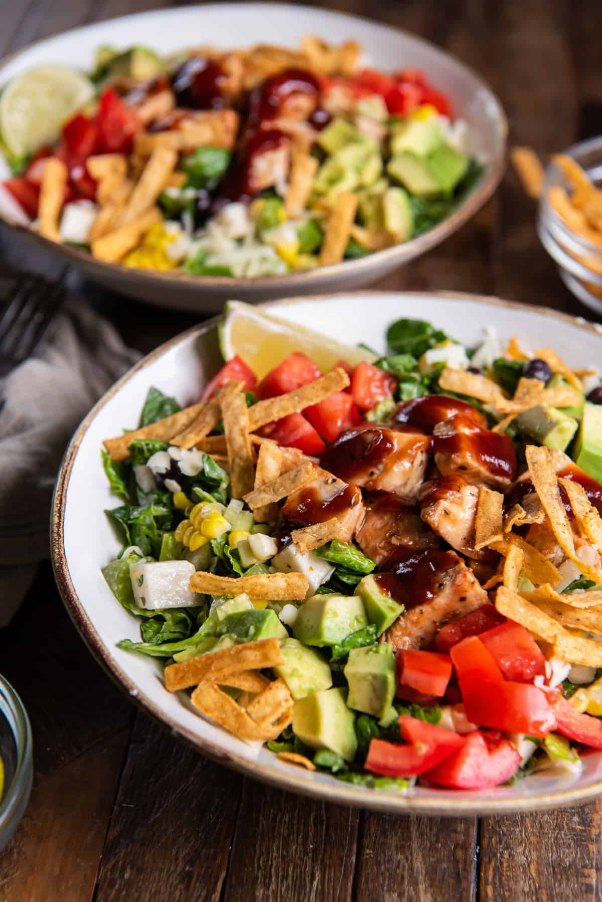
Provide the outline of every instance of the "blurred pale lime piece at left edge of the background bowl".
<path id="1" fill-rule="evenodd" d="M 17 75 L 0 96 L 0 134 L 14 157 L 53 143 L 60 126 L 94 97 L 94 85 L 67 66 L 37 66 Z"/>

